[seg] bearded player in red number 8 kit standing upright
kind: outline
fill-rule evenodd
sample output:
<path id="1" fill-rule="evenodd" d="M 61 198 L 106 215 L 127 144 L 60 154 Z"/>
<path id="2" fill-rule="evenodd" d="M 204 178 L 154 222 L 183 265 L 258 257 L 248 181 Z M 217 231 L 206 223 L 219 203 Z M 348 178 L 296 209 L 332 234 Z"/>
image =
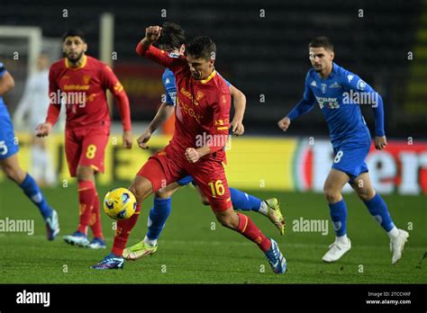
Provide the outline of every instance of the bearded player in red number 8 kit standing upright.
<path id="1" fill-rule="evenodd" d="M 123 123 L 123 145 L 132 148 L 129 100 L 113 70 L 96 58 L 86 56 L 87 44 L 82 31 L 67 31 L 63 36 L 66 58 L 50 67 L 50 106 L 46 121 L 37 127 L 37 136 L 45 137 L 58 120 L 61 103 L 67 107 L 65 153 L 69 174 L 77 177 L 80 216 L 77 231 L 64 237 L 70 245 L 105 248 L 95 187 L 95 174 L 104 173 L 104 149 L 110 133 L 110 112 L 105 91 L 117 101 Z M 87 238 L 87 228 L 94 233 Z"/>

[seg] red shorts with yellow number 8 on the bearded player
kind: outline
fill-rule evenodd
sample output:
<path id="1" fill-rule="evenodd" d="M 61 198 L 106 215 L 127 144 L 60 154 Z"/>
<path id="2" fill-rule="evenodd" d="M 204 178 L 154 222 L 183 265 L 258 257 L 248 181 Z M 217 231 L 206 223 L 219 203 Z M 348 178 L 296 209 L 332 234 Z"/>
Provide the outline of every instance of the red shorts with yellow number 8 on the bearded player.
<path id="1" fill-rule="evenodd" d="M 105 146 L 108 129 L 65 130 L 65 154 L 69 174 L 77 176 L 77 166 L 91 166 L 95 172 L 104 173 Z"/>

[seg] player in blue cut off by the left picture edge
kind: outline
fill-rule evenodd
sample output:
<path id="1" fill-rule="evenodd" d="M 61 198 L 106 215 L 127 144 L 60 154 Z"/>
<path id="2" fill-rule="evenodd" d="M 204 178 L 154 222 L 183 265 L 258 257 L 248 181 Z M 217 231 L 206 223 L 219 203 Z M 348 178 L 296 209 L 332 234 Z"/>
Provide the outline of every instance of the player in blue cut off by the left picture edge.
<path id="1" fill-rule="evenodd" d="M 37 183 L 30 174 L 23 171 L 18 162 L 18 140 L 14 136 L 14 126 L 3 100 L 3 95 L 12 88 L 14 77 L 0 62 L 0 165 L 6 176 L 17 183 L 28 199 L 39 208 L 46 223 L 48 240 L 53 240 L 59 234 L 58 213 L 50 208 Z"/>

